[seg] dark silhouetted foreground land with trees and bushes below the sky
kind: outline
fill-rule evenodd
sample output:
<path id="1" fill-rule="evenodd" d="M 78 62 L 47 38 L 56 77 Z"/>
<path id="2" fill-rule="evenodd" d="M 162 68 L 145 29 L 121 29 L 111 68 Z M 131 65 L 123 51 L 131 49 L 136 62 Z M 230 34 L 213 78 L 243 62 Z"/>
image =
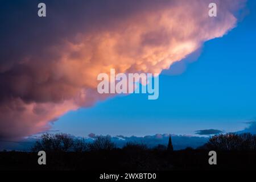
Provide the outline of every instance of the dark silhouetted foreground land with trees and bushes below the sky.
<path id="1" fill-rule="evenodd" d="M 172 151 L 159 145 L 127 143 L 116 148 L 110 137 L 93 143 L 67 134 L 42 135 L 31 152 L 0 152 L 1 170 L 186 170 L 256 169 L 256 137 L 251 134 L 221 134 L 204 146 Z M 47 165 L 38 164 L 38 151 L 47 154 Z M 209 165 L 208 152 L 217 152 L 217 165 Z"/>

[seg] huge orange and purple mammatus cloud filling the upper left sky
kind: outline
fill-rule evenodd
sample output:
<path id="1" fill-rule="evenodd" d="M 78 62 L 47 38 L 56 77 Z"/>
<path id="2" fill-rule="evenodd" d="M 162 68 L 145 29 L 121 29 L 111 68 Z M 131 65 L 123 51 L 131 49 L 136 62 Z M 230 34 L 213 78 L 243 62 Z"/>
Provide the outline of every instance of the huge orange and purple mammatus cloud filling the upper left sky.
<path id="1" fill-rule="evenodd" d="M 97 75 L 160 73 L 236 26 L 243 1 L 6 1 L 1 6 L 0 138 L 48 130 L 69 110 L 104 100 Z"/>

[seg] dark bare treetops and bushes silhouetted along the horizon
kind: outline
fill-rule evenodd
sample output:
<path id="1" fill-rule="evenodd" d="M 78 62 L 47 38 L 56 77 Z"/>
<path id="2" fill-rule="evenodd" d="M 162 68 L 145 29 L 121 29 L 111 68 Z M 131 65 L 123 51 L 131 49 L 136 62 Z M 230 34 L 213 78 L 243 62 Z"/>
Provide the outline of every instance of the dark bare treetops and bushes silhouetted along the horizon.
<path id="1" fill-rule="evenodd" d="M 111 137 L 97 136 L 93 142 L 86 142 L 84 138 L 73 138 L 69 134 L 43 134 L 41 139 L 36 141 L 31 148 L 33 152 L 47 151 L 47 152 L 85 152 L 98 150 L 113 150 L 117 148 L 112 142 Z M 128 142 L 123 146 L 123 150 L 143 151 L 143 150 L 157 150 L 165 151 L 167 146 L 159 144 L 154 148 L 148 148 L 146 144 L 137 142 Z M 187 149 L 193 150 L 188 147 Z M 197 148 L 199 150 L 215 150 L 215 151 L 256 151 L 256 135 L 250 133 L 236 134 L 226 133 L 218 134 L 210 137 L 208 142 Z"/>

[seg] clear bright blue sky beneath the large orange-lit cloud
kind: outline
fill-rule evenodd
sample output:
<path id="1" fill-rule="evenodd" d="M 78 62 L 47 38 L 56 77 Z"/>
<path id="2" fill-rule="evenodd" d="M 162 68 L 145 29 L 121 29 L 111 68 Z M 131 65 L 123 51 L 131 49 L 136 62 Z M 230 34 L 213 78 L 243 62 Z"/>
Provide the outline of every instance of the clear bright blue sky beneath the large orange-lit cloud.
<path id="1" fill-rule="evenodd" d="M 195 61 L 185 59 L 170 68 L 185 65 L 182 73 L 160 75 L 158 100 L 147 100 L 143 94 L 110 98 L 69 111 L 53 130 L 82 137 L 244 129 L 245 122 L 256 117 L 255 7 L 255 1 L 249 1 L 237 27 L 206 42 Z"/>

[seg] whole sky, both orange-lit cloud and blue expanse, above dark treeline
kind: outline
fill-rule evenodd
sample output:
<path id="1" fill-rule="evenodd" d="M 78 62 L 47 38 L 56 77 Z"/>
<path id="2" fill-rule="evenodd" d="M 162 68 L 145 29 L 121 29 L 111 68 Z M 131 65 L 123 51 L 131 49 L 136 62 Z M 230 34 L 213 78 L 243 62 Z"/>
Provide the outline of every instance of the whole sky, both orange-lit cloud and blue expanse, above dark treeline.
<path id="1" fill-rule="evenodd" d="M 256 132 L 256 3 L 209 2 L 1 2 L 0 139 Z M 98 94 L 110 68 L 160 73 L 158 100 Z"/>

